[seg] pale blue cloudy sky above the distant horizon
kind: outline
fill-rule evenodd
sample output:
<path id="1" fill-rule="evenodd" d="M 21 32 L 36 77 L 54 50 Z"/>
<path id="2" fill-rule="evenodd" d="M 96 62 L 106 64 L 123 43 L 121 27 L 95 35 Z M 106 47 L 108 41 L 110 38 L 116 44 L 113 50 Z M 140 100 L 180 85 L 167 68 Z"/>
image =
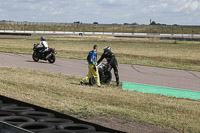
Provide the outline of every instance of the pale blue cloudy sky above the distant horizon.
<path id="1" fill-rule="evenodd" d="M 200 0 L 0 0 L 0 20 L 200 25 Z"/>

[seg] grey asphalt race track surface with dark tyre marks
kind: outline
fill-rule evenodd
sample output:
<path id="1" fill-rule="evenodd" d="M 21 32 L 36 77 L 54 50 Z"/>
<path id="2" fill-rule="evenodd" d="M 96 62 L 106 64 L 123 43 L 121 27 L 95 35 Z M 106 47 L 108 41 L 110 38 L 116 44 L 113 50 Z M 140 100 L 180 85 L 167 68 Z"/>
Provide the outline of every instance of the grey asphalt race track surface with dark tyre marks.
<path id="1" fill-rule="evenodd" d="M 34 62 L 31 55 L 0 52 L 0 61 L 1 67 L 41 70 L 64 75 L 83 77 L 88 72 L 86 60 L 56 58 L 54 64 L 49 64 L 47 61 Z M 200 92 L 200 72 L 195 71 L 119 64 L 119 76 L 120 81 L 125 82 Z"/>

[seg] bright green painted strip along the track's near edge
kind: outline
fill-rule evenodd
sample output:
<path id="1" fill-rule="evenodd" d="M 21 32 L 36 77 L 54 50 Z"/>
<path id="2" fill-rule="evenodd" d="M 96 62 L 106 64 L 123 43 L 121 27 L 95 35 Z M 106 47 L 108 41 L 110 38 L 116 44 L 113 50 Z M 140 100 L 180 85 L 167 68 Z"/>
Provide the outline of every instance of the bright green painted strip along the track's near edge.
<path id="1" fill-rule="evenodd" d="M 128 82 L 122 82 L 122 88 L 123 90 L 129 90 L 129 91 L 138 91 L 143 93 L 160 94 L 177 98 L 189 98 L 194 100 L 200 100 L 200 92 L 195 92 L 195 91 L 179 90 L 173 88 L 135 84 Z"/>

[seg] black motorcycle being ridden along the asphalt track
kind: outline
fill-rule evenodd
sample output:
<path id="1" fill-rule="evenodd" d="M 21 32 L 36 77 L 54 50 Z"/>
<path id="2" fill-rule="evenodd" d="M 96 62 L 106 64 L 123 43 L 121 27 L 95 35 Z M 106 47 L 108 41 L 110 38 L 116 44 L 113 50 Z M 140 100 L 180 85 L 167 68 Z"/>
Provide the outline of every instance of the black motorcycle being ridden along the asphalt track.
<path id="1" fill-rule="evenodd" d="M 56 60 L 54 48 L 49 48 L 47 51 L 43 52 L 43 47 L 40 47 L 39 44 L 34 44 L 33 51 L 32 58 L 35 62 L 38 62 L 39 60 L 48 60 L 49 63 L 54 63 Z"/>

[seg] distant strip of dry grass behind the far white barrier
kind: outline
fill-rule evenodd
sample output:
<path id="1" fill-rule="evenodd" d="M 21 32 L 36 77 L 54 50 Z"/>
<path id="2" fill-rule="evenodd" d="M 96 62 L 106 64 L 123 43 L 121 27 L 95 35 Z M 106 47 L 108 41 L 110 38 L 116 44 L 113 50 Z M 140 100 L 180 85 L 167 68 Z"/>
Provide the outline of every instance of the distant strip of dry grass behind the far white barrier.
<path id="1" fill-rule="evenodd" d="M 30 31 L 72 31 L 72 32 L 120 32 L 120 33 L 167 33 L 167 34 L 199 34 L 199 27 L 180 26 L 101 26 L 101 25 L 12 25 L 0 24 L 0 30 Z"/>

